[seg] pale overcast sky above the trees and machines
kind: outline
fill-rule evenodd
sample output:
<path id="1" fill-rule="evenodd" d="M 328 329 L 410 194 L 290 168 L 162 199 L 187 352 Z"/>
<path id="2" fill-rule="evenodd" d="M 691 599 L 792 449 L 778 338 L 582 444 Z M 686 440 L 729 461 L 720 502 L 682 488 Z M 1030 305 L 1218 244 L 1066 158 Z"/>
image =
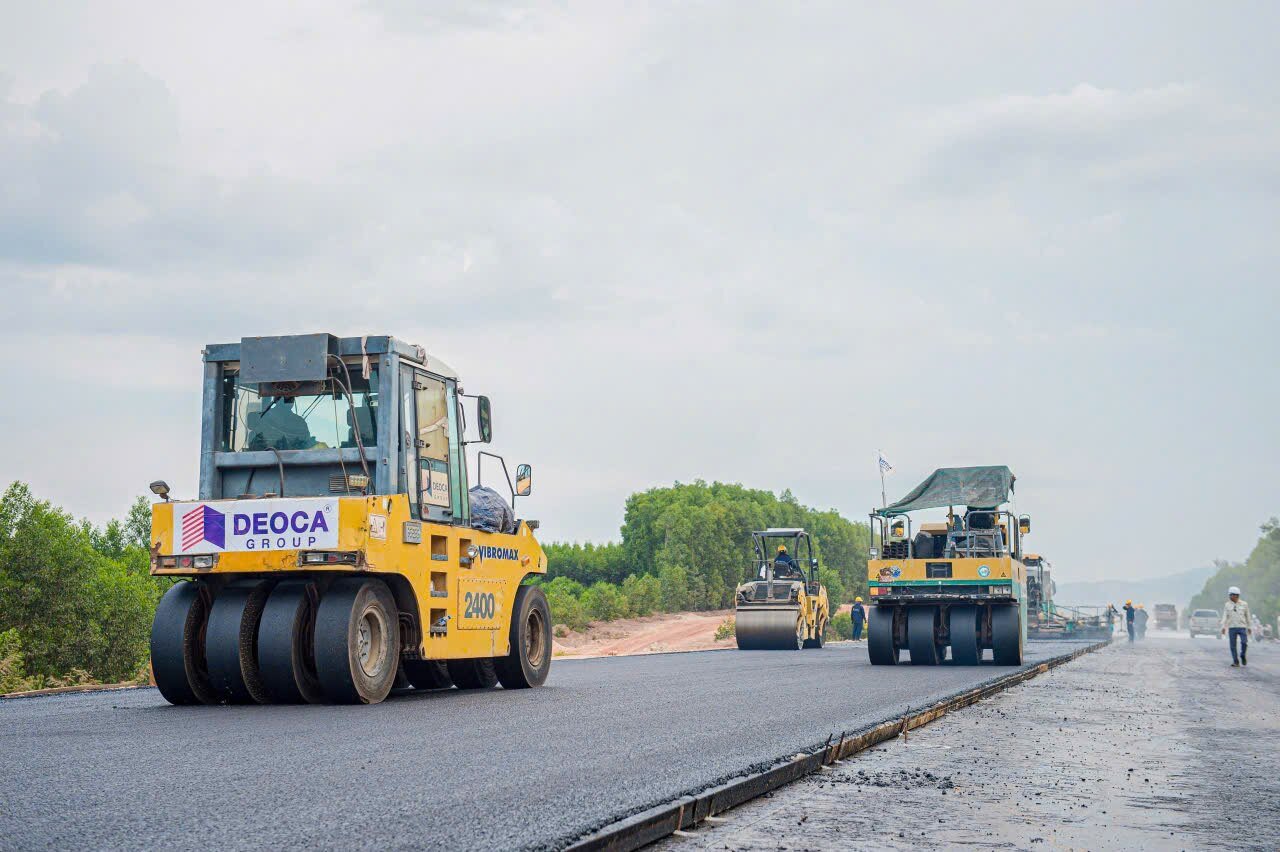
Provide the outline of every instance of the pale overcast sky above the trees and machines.
<path id="1" fill-rule="evenodd" d="M 424 12 L 424 8 L 431 12 Z M 200 349 L 394 334 L 550 539 L 1007 463 L 1059 582 L 1280 513 L 1280 6 L 0 5 L 0 478 L 195 493 Z"/>

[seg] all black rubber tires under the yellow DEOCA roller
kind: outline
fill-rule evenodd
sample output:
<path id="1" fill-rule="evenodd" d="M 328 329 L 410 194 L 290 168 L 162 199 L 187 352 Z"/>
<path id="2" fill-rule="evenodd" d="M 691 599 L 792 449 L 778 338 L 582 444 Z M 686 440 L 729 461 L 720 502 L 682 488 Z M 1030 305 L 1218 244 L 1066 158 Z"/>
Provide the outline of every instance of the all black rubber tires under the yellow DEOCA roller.
<path id="1" fill-rule="evenodd" d="M 214 596 L 180 582 L 151 627 L 156 686 L 170 704 L 378 704 L 397 674 L 419 690 L 541 686 L 550 670 L 547 596 L 520 586 L 511 652 L 481 660 L 402 660 L 399 610 L 380 580 L 233 581 Z M 401 681 L 403 683 L 404 681 Z"/>

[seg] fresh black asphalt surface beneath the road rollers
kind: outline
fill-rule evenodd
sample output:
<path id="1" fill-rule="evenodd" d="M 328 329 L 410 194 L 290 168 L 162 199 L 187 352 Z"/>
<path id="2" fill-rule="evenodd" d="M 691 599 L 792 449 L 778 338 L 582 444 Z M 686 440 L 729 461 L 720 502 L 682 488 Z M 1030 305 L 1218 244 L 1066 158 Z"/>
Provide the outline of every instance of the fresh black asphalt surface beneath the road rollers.
<path id="1" fill-rule="evenodd" d="M 558 660 L 539 690 L 367 707 L 5 700 L 0 848 L 558 848 L 1011 670 L 873 668 L 844 643 Z"/>

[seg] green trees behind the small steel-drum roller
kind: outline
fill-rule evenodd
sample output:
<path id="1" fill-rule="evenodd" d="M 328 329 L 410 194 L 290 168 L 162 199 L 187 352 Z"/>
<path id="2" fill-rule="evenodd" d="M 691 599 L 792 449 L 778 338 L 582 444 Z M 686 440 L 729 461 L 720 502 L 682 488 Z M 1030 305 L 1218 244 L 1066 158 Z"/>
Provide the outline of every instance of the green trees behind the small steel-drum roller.
<path id="1" fill-rule="evenodd" d="M 867 592 L 865 523 L 801 505 L 790 491 L 677 482 L 627 498 L 621 541 L 544 546 L 552 617 L 579 629 L 589 620 L 727 609 L 737 585 L 754 576 L 750 533 L 768 527 L 809 531 L 832 606 Z"/>

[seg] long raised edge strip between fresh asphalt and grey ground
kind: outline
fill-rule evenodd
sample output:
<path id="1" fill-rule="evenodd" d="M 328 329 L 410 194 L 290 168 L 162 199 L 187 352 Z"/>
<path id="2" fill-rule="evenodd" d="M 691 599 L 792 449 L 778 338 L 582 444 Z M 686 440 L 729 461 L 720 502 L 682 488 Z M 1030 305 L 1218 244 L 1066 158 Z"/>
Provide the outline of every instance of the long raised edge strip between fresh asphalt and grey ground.
<path id="1" fill-rule="evenodd" d="M 943 698 L 928 707 L 908 713 L 900 718 L 882 722 L 873 728 L 855 736 L 841 736 L 836 739 L 829 737 L 824 745 L 818 746 L 809 753 L 799 753 L 790 760 L 774 764 L 763 771 L 742 775 L 733 780 L 710 787 L 694 796 L 681 796 L 680 798 L 658 805 L 649 810 L 627 816 L 617 823 L 604 826 L 585 837 L 573 840 L 567 848 L 573 852 L 595 852 L 596 849 L 626 851 L 639 849 L 655 840 L 660 840 L 678 830 L 696 826 L 708 816 L 716 816 L 732 807 L 763 796 L 780 787 L 810 775 L 823 766 L 851 757 L 860 751 L 867 751 L 873 746 L 899 737 L 908 730 L 914 730 L 927 725 L 936 719 L 941 719 L 952 710 L 968 707 L 997 692 L 1004 692 L 1009 687 L 1030 681 L 1038 674 L 1057 668 L 1103 649 L 1111 640 L 1103 640 L 1076 649 L 1068 654 L 1060 654 L 1033 667 L 1019 669 L 1011 674 L 997 678 L 966 692 Z"/>

